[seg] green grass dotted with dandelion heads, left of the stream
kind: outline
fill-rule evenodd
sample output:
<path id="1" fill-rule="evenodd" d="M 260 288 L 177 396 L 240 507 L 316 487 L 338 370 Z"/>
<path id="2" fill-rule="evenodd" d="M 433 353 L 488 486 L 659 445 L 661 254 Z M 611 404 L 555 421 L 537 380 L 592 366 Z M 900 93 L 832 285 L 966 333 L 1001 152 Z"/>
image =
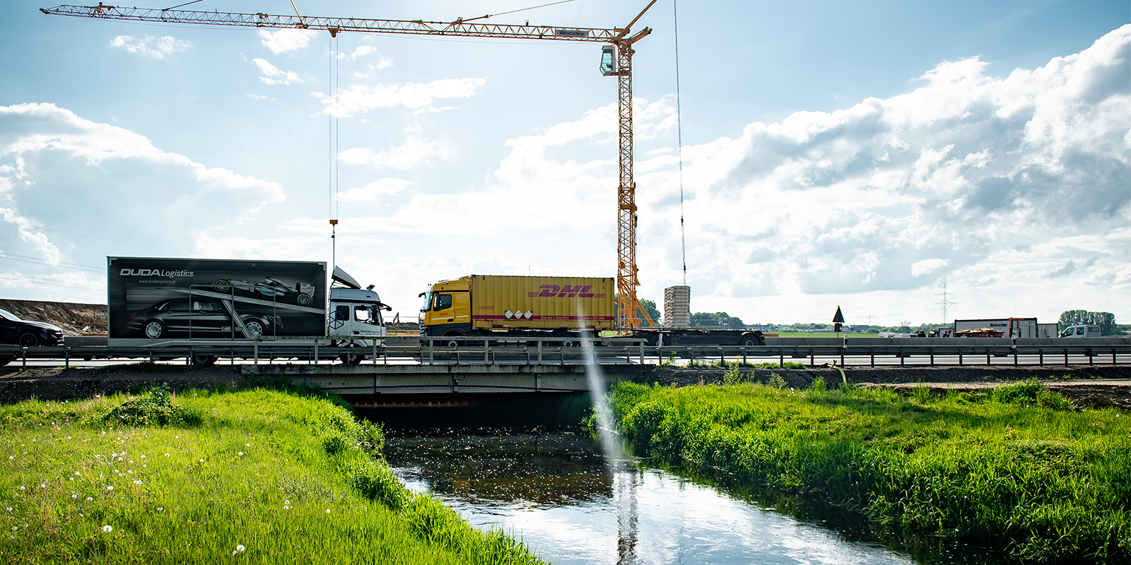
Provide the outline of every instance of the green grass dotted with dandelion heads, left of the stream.
<path id="1" fill-rule="evenodd" d="M 336 397 L 0 407 L 0 563 L 541 563 L 405 489 Z"/>

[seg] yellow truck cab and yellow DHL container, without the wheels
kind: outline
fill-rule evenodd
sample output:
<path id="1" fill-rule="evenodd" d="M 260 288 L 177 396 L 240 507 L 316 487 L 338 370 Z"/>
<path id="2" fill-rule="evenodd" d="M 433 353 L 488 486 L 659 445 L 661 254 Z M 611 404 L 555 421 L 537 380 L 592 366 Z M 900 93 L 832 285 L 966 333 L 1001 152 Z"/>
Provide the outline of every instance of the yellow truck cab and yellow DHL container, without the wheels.
<path id="1" fill-rule="evenodd" d="M 472 275 L 432 285 L 422 336 L 612 330 L 613 279 Z"/>

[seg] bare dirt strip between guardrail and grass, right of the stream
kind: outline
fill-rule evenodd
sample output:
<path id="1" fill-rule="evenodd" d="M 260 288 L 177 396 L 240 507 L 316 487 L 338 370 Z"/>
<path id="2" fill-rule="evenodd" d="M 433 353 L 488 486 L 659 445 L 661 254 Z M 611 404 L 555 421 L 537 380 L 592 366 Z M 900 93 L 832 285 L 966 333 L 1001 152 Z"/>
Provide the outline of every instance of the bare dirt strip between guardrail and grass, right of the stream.
<path id="1" fill-rule="evenodd" d="M 777 373 L 786 386 L 806 389 L 817 377 L 829 386 L 840 382 L 835 368 L 744 368 L 746 380 L 766 382 Z M 726 371 L 699 367 L 656 367 L 637 379 L 638 382 L 687 386 L 719 384 Z M 1039 379 L 1052 390 L 1064 394 L 1077 406 L 1119 406 L 1131 409 L 1131 367 L 1125 365 L 1088 365 L 1069 367 L 845 367 L 845 377 L 856 386 L 887 386 L 907 393 L 926 386 L 934 393 L 992 389 L 1010 382 Z"/>

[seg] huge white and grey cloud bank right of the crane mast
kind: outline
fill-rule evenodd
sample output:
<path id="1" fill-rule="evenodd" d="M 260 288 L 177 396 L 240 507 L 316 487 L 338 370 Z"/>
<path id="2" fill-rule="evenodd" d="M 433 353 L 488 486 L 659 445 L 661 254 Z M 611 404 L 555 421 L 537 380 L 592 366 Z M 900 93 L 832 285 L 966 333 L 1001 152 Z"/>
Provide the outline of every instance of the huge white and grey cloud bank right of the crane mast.
<path id="1" fill-rule="evenodd" d="M 970 315 L 995 302 L 1053 311 L 1068 288 L 1114 311 L 1131 290 L 1116 243 L 1131 221 L 1128 76 L 1131 25 L 1038 69 L 943 62 L 907 94 L 684 147 L 692 285 L 765 319 L 788 310 L 783 297 L 910 296 L 941 279 L 985 293 Z M 679 280 L 677 179 L 666 164 L 642 173 L 641 223 L 656 224 L 641 278 Z M 1085 235 L 1093 249 L 1054 251 Z"/>

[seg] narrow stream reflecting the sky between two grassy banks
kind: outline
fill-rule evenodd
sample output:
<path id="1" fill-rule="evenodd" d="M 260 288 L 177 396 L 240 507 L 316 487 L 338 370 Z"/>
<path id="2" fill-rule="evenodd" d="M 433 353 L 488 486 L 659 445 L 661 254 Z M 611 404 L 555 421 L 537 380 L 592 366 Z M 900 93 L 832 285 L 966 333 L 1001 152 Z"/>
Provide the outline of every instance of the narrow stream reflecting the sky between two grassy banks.
<path id="1" fill-rule="evenodd" d="M 639 460 L 614 471 L 586 435 L 402 435 L 385 453 L 409 488 L 553 563 L 913 563 Z"/>

